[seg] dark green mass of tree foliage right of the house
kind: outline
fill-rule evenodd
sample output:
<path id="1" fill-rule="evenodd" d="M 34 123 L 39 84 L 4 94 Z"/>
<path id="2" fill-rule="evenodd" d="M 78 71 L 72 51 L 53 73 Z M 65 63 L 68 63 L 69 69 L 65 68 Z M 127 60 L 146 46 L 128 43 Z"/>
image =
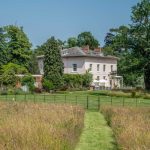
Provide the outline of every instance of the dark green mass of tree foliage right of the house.
<path id="1" fill-rule="evenodd" d="M 128 86 L 137 86 L 144 75 L 150 89 L 150 1 L 142 0 L 132 8 L 132 24 L 110 29 L 105 38 L 104 53 L 120 57 L 118 73 Z M 141 67 L 142 66 L 142 67 Z"/>

